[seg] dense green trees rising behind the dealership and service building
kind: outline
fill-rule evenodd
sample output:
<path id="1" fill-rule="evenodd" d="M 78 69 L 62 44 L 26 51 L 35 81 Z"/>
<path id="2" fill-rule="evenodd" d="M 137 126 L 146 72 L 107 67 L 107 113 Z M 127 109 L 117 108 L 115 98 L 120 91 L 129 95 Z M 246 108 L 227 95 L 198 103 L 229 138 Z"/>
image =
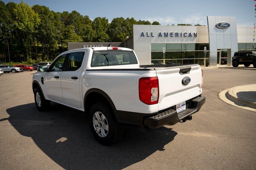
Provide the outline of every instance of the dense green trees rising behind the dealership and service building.
<path id="1" fill-rule="evenodd" d="M 134 18 L 105 17 L 93 21 L 77 11 L 54 12 L 46 6 L 30 7 L 21 1 L 5 4 L 0 0 L 0 63 L 33 64 L 51 61 L 67 50 L 69 42 L 122 42 L 132 36 L 134 24 L 151 25 Z M 160 25 L 154 21 L 153 25 Z M 7 43 L 8 42 L 8 43 Z"/>

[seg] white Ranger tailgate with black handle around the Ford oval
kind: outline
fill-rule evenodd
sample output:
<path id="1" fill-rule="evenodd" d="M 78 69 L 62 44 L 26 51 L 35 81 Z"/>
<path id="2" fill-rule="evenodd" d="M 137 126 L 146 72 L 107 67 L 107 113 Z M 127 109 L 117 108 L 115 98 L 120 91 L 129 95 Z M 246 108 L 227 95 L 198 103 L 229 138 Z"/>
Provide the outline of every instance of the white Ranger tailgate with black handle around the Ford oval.
<path id="1" fill-rule="evenodd" d="M 159 68 L 155 70 L 159 82 L 159 111 L 194 98 L 202 93 L 202 72 L 199 65 L 188 65 L 181 68 Z M 182 84 L 184 77 L 191 79 L 189 84 Z"/>

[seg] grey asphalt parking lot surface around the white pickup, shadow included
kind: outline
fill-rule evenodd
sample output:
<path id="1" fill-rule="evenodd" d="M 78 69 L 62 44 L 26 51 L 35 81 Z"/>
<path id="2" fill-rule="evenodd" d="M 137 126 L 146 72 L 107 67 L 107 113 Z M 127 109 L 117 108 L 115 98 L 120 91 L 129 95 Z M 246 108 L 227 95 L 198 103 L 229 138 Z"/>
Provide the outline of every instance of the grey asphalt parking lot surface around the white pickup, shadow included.
<path id="1" fill-rule="evenodd" d="M 206 102 L 191 121 L 157 129 L 125 126 L 123 138 L 99 144 L 81 111 L 34 103 L 36 71 L 0 76 L 0 169 L 255 169 L 255 112 L 218 93 L 255 84 L 255 70 L 204 69 Z M 171 85 L 170 85 L 171 86 Z"/>

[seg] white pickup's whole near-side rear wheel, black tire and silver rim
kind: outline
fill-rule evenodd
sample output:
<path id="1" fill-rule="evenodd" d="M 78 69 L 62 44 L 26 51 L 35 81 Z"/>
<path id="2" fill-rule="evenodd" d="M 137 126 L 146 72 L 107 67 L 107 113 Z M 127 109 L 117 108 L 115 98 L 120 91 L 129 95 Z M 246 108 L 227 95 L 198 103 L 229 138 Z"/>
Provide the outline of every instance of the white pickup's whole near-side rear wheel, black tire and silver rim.
<path id="1" fill-rule="evenodd" d="M 89 112 L 93 136 L 103 145 L 111 145 L 122 137 L 123 126 L 116 122 L 113 110 L 105 103 L 95 103 Z"/>

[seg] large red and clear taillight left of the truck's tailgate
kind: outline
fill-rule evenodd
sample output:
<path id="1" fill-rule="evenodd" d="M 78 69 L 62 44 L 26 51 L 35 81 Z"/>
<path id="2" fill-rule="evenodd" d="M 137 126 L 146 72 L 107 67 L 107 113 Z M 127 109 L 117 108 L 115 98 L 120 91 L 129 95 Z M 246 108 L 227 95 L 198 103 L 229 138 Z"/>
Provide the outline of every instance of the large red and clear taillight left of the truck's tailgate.
<path id="1" fill-rule="evenodd" d="M 156 104 L 159 98 L 157 77 L 143 77 L 139 80 L 139 97 L 145 104 Z"/>

